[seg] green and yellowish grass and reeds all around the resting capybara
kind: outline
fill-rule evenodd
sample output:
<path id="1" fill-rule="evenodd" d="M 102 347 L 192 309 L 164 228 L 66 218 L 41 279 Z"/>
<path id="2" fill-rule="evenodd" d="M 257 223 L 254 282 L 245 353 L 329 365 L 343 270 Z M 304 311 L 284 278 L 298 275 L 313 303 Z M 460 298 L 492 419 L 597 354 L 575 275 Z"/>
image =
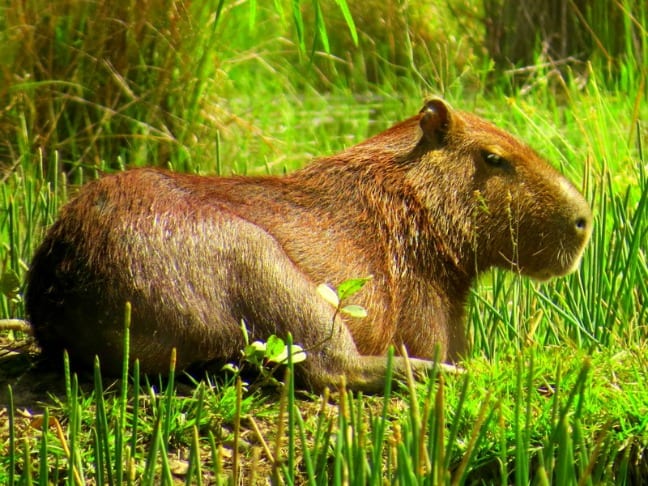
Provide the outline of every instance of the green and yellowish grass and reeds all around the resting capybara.
<path id="1" fill-rule="evenodd" d="M 599 42 L 578 69 L 557 69 L 540 42 L 511 71 L 481 47 L 494 2 L 261 3 L 0 7 L 0 317 L 24 317 L 31 255 L 84 181 L 141 165 L 290 171 L 415 113 L 431 93 L 516 133 L 580 185 L 596 218 L 580 270 L 542 284 L 488 273 L 468 309 L 466 373 L 386 383 L 383 397 L 297 392 L 290 367 L 284 385 L 245 383 L 240 370 L 149 381 L 125 367 L 130 378 L 108 385 L 98 369 L 89 381 L 67 370 L 62 393 L 36 401 L 22 393 L 38 374 L 23 365 L 9 376 L 24 362 L 7 353 L 0 482 L 648 477 L 644 3 L 608 2 L 626 28 L 614 49 L 604 12 L 583 12 Z M 2 343 L 20 338 L 5 331 Z"/>

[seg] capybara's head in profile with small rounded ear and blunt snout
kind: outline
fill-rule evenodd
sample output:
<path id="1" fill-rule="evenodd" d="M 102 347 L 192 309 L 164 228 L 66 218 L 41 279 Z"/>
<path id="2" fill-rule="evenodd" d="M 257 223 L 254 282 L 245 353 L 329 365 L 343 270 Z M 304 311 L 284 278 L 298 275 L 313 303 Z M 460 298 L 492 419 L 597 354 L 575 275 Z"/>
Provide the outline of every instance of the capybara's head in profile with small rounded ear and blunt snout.
<path id="1" fill-rule="evenodd" d="M 419 123 L 423 155 L 410 181 L 429 194 L 458 260 L 472 255 L 476 271 L 498 266 L 540 280 L 578 266 L 592 213 L 567 179 L 511 135 L 442 100 L 428 101 Z"/>

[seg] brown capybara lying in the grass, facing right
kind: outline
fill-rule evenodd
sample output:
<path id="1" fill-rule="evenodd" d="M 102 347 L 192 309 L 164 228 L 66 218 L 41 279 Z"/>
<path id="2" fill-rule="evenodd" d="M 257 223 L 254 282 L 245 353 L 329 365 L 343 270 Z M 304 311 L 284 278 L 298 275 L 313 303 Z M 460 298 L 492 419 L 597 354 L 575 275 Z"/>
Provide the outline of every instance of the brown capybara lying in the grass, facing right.
<path id="1" fill-rule="evenodd" d="M 578 265 L 592 216 L 534 151 L 426 102 L 416 116 L 283 177 L 136 169 L 83 187 L 36 252 L 26 305 L 45 353 L 118 374 L 125 303 L 147 373 L 236 360 L 271 334 L 307 350 L 305 386 L 381 391 L 390 345 L 415 372 L 466 350 L 464 307 L 490 267 L 538 279 Z M 321 283 L 372 275 L 368 317 L 335 314 Z M 333 320 L 334 315 L 335 320 Z M 394 361 L 402 375 L 404 357 Z"/>

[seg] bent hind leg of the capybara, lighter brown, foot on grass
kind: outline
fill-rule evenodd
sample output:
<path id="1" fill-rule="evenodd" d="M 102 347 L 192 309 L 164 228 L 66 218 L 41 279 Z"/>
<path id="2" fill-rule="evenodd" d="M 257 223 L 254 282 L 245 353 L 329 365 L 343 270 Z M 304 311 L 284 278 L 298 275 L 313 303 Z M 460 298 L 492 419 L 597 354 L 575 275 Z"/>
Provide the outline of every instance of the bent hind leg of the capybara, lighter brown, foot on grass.
<path id="1" fill-rule="evenodd" d="M 237 229 L 239 250 L 243 245 L 244 253 L 254 258 L 229 262 L 230 278 L 240 282 L 230 298 L 236 303 L 233 310 L 249 328 L 250 338 L 265 340 L 270 334 L 285 338 L 290 332 L 307 356 L 296 372 L 315 390 L 338 386 L 344 375 L 351 389 L 382 391 L 387 358 L 360 355 L 339 314 L 336 317 L 335 309 L 317 292 L 321 282 L 306 277 L 272 236 L 254 225 L 242 224 L 246 227 Z M 418 371 L 432 366 L 424 360 L 412 362 Z M 405 376 L 403 358 L 394 359 L 394 375 Z"/>

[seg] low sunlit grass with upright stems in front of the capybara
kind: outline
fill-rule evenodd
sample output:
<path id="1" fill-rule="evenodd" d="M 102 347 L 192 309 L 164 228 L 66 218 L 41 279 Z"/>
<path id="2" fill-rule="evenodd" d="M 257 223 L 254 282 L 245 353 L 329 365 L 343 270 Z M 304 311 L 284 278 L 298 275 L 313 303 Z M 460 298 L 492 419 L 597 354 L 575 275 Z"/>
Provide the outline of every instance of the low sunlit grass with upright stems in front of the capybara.
<path id="1" fill-rule="evenodd" d="M 243 398 L 237 384 L 202 382 L 183 396 L 170 379 L 115 393 L 96 373 L 88 392 L 72 376 L 67 398 L 46 410 L 61 418 L 10 420 L 3 464 L 17 481 L 38 470 L 37 482 L 81 484 L 169 484 L 174 475 L 197 484 L 234 474 L 236 462 L 248 479 L 311 484 L 385 477 L 528 484 L 543 476 L 600 484 L 645 474 L 648 394 L 639 352 L 590 357 L 555 347 L 467 364 L 466 375 L 387 388 L 380 398 L 341 392 L 332 402 L 304 401 L 288 384 L 270 392 L 279 406 Z"/>

